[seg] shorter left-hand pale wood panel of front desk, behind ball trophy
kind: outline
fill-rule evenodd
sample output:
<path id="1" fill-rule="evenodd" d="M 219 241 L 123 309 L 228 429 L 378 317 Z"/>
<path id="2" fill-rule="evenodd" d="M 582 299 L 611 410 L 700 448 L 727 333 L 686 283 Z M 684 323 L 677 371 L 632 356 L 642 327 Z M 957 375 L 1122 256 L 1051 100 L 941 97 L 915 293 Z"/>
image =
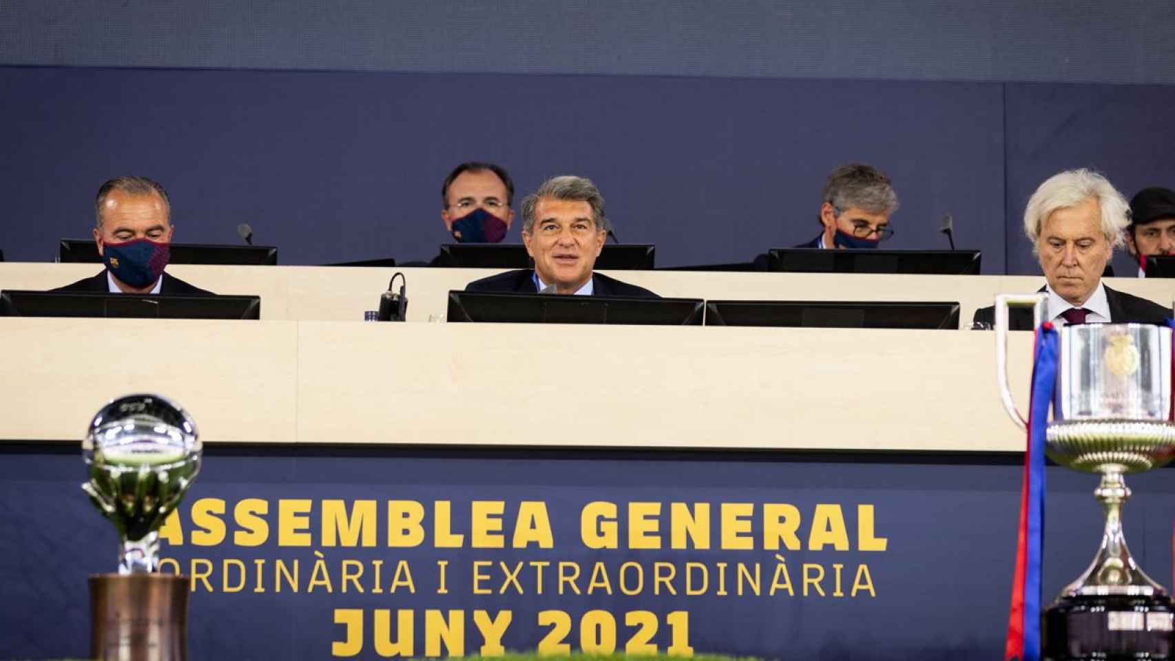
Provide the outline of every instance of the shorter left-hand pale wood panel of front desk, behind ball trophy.
<path id="1" fill-rule="evenodd" d="M 0 318 L 0 438 L 78 440 L 106 402 L 174 398 L 207 441 L 295 439 L 291 322 Z"/>

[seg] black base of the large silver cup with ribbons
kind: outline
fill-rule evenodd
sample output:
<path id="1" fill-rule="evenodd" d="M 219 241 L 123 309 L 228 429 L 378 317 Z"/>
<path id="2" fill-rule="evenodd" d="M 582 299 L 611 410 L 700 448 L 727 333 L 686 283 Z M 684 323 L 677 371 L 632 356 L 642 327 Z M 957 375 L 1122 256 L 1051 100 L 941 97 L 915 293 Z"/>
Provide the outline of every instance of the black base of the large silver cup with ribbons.
<path id="1" fill-rule="evenodd" d="M 1046 661 L 1175 659 L 1171 600 L 1164 594 L 1062 596 L 1045 611 Z"/>

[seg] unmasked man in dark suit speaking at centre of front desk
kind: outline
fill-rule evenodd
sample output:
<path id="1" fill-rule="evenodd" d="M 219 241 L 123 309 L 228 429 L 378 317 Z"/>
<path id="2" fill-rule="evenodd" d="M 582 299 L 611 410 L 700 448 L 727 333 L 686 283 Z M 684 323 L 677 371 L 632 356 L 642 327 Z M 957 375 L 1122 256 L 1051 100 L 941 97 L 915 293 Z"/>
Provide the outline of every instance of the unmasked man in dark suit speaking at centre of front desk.
<path id="1" fill-rule="evenodd" d="M 522 241 L 535 269 L 474 281 L 465 290 L 657 298 L 647 289 L 593 272 L 609 229 L 596 184 L 576 176 L 548 180 L 522 203 Z"/>

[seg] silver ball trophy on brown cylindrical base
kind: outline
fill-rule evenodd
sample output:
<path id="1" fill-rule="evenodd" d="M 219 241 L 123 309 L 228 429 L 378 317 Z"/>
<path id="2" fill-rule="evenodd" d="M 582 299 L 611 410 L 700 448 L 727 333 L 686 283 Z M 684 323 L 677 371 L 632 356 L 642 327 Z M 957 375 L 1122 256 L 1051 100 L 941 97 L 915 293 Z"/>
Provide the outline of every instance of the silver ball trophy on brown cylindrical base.
<path id="1" fill-rule="evenodd" d="M 119 531 L 119 573 L 89 579 L 90 655 L 182 660 L 186 576 L 159 573 L 159 528 L 200 472 L 192 418 L 156 394 L 110 402 L 89 424 L 82 453 L 89 499 Z"/>

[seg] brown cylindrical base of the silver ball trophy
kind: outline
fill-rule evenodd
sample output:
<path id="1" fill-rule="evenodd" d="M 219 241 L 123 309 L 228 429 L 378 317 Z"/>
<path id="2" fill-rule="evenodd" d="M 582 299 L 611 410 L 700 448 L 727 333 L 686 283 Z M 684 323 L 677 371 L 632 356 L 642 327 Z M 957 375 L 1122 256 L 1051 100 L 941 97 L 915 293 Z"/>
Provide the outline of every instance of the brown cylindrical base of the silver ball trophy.
<path id="1" fill-rule="evenodd" d="M 101 661 L 184 661 L 188 578 L 172 574 L 89 576 L 89 655 Z"/>

